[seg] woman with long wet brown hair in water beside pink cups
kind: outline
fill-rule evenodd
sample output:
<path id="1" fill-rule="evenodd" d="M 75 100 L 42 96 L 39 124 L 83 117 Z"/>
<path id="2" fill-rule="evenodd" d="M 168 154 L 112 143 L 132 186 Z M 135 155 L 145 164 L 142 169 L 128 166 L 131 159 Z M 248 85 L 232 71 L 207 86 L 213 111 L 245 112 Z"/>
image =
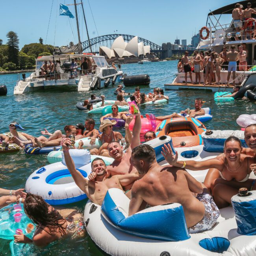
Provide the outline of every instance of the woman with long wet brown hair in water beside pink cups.
<path id="1" fill-rule="evenodd" d="M 62 237 L 74 238 L 85 235 L 83 217 L 80 213 L 71 209 L 64 210 L 63 213 L 67 215 L 65 217 L 40 196 L 28 193 L 24 199 L 24 211 L 37 228 L 32 239 L 22 232 L 14 235 L 16 243 L 33 243 L 36 246 L 45 247 Z"/>

